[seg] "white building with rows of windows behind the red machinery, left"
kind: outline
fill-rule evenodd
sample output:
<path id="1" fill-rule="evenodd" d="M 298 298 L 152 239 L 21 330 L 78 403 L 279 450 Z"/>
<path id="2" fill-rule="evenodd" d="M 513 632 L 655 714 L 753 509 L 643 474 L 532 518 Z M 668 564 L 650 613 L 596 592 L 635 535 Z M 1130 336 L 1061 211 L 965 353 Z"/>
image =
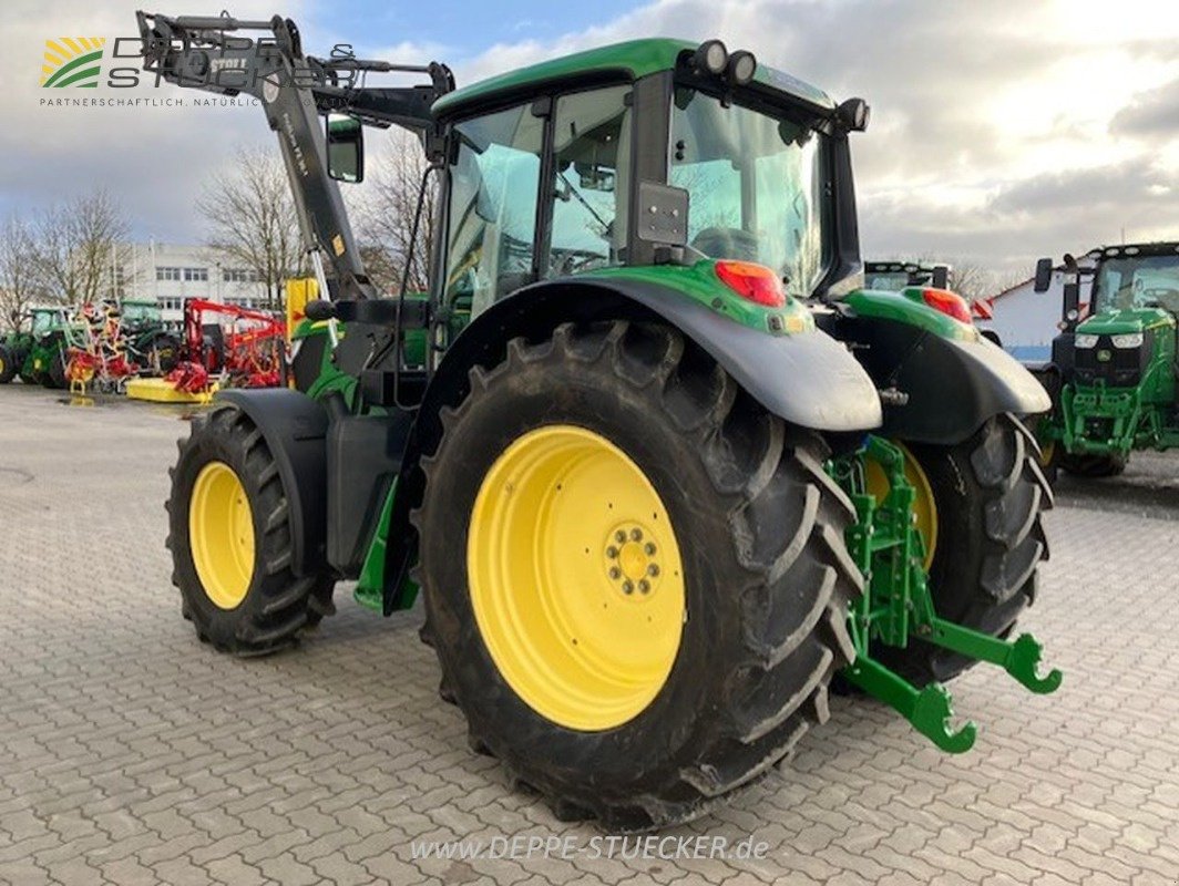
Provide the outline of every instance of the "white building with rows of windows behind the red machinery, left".
<path id="1" fill-rule="evenodd" d="M 114 269 L 119 296 L 158 302 L 166 322 L 184 318 L 184 302 L 189 298 L 268 308 L 265 282 L 232 256 L 209 246 L 132 243 L 119 250 L 119 258 Z"/>

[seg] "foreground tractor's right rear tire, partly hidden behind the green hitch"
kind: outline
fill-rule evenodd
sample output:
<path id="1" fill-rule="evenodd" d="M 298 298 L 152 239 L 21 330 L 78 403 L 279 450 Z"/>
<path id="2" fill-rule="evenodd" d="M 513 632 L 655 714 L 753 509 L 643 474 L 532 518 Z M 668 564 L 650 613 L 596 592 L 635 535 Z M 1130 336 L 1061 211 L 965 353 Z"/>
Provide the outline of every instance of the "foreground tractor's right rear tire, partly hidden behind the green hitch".
<path id="1" fill-rule="evenodd" d="M 997 416 L 963 443 L 911 444 L 907 457 L 915 459 L 926 485 L 916 484 L 918 513 L 922 497 L 931 496 L 934 507 L 929 589 L 935 610 L 1007 636 L 1035 600 L 1040 562 L 1048 558 L 1041 515 L 1053 496 L 1039 447 L 1016 418 Z M 916 637 L 904 649 L 881 647 L 877 655 L 918 686 L 949 680 L 975 663 Z"/>

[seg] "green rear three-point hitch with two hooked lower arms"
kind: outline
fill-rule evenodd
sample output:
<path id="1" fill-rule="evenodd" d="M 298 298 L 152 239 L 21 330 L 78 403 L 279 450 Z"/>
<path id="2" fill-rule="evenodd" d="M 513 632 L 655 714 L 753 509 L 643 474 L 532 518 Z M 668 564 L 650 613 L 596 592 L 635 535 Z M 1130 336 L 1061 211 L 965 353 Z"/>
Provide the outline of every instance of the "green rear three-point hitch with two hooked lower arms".
<path id="1" fill-rule="evenodd" d="M 882 501 L 867 492 L 864 462 L 884 470 L 889 491 Z M 849 613 L 856 659 L 843 676 L 904 716 L 942 751 L 969 751 L 977 727 L 953 728 L 954 709 L 941 683 L 917 688 L 872 657 L 872 647 L 904 648 L 914 637 L 977 661 L 996 664 L 1038 694 L 1060 688 L 1062 675 L 1040 676 L 1041 646 L 1030 634 L 1000 640 L 942 619 L 934 609 L 923 568 L 924 544 L 913 517 L 916 490 L 904 476 L 904 452 L 887 439 L 869 436 L 859 451 L 831 462 L 830 471 L 856 508 L 847 531 L 848 549 L 864 574 L 864 595 Z"/>

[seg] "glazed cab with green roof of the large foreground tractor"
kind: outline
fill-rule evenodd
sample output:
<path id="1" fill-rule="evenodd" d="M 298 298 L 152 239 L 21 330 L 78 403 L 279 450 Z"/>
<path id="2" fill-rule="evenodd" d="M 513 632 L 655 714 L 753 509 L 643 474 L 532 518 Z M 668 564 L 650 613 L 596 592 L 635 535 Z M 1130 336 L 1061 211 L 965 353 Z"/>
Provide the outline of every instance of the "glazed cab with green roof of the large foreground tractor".
<path id="1" fill-rule="evenodd" d="M 858 270 L 847 133 L 867 106 L 837 107 L 719 41 L 593 49 L 433 111 L 452 146 L 436 284 L 447 316 L 635 266 L 739 278 L 714 310 L 785 315 Z"/>

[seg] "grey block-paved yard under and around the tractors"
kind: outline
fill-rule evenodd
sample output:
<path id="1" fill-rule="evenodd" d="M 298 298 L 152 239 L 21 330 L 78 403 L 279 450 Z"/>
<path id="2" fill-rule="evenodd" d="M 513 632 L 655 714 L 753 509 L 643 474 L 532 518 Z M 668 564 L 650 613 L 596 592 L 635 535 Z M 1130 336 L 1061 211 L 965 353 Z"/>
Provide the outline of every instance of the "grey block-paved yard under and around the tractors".
<path id="1" fill-rule="evenodd" d="M 760 859 L 415 860 L 416 840 L 599 834 L 467 748 L 419 611 L 340 593 L 294 652 L 198 643 L 163 546 L 186 432 L 162 409 L 0 389 L 0 881 L 1179 882 L 1179 489 L 1153 489 L 1179 459 L 1065 490 L 1025 624 L 1067 682 L 964 676 L 970 754 L 835 699 L 785 772 L 673 832 L 752 835 Z"/>

